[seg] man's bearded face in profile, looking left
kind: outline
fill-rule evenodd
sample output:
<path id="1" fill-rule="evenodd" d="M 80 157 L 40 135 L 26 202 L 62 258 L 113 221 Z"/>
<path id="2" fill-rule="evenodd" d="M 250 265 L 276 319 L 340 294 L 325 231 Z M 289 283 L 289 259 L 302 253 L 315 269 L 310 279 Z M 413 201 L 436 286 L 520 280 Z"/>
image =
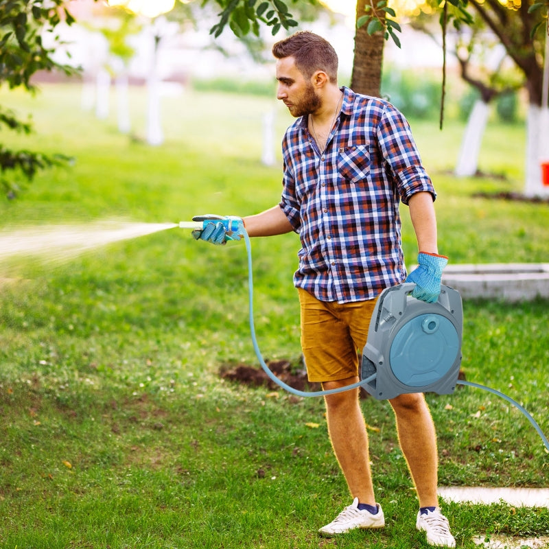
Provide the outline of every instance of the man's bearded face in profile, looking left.
<path id="1" fill-rule="evenodd" d="M 314 113 L 322 103 L 314 86 L 297 69 L 293 57 L 277 60 L 277 99 L 284 102 L 294 117 Z"/>

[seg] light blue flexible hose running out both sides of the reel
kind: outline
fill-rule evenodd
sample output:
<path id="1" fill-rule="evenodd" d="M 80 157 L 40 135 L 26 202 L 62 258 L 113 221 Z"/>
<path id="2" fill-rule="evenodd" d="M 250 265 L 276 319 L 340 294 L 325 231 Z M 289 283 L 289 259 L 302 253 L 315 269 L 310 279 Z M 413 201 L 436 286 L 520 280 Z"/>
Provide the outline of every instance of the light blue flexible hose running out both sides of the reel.
<path id="1" fill-rule="evenodd" d="M 250 244 L 250 237 L 248 236 L 248 233 L 246 233 L 246 229 L 244 229 L 244 242 L 246 243 L 246 253 L 248 254 L 248 296 L 249 296 L 249 316 L 250 316 L 250 334 L 252 337 L 252 343 L 253 348 L 255 351 L 255 355 L 257 356 L 257 360 L 259 360 L 259 364 L 261 364 L 261 368 L 264 369 L 265 373 L 272 379 L 274 383 L 281 386 L 281 388 L 288 391 L 288 393 L 292 393 L 292 395 L 296 395 L 298 397 L 321 397 L 325 395 L 334 395 L 334 393 L 342 393 L 346 390 L 355 389 L 358 387 L 362 387 L 366 384 L 369 384 L 377 374 L 373 374 L 369 377 L 366 377 L 366 379 L 362 379 L 360 382 L 353 383 L 351 385 L 346 385 L 344 387 L 340 387 L 337 389 L 329 389 L 329 390 L 316 390 L 316 391 L 303 391 L 298 390 L 290 385 L 284 383 L 281 379 L 279 379 L 272 371 L 270 371 L 269 367 L 265 363 L 265 360 L 263 358 L 263 355 L 261 355 L 261 351 L 259 350 L 259 345 L 257 344 L 257 337 L 255 335 L 255 324 L 253 320 L 253 270 L 252 270 L 252 246 Z M 532 423 L 535 430 L 537 430 L 539 436 L 541 436 L 541 440 L 544 442 L 544 445 L 546 447 L 546 452 L 549 452 L 549 441 L 547 437 L 545 436 L 544 432 L 541 430 L 535 419 L 526 411 L 526 409 L 521 406 L 517 401 L 513 400 L 511 397 L 505 395 L 504 393 L 500 393 L 500 391 L 492 389 L 490 387 L 480 385 L 478 383 L 472 383 L 472 382 L 466 382 L 462 379 L 458 379 L 457 382 L 460 385 L 467 385 L 470 387 L 476 387 L 479 389 L 487 390 L 490 393 L 493 393 L 494 395 L 498 395 L 498 397 L 502 397 L 502 399 L 505 399 L 506 401 L 509 401 L 513 406 L 518 408 L 524 416 L 526 416 L 526 419 Z"/>

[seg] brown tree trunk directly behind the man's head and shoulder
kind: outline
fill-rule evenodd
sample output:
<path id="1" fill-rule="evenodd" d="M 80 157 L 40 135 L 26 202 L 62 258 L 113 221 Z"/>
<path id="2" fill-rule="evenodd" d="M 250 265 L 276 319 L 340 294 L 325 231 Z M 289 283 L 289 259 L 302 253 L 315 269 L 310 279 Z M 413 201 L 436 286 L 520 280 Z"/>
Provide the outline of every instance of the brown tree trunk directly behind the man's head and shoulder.
<path id="1" fill-rule="evenodd" d="M 366 0 L 357 0 L 356 19 L 364 15 Z M 381 95 L 383 47 L 385 38 L 383 32 L 375 32 L 372 36 L 366 31 L 368 25 L 362 25 L 355 33 L 355 57 L 351 75 L 351 89 L 364 95 Z"/>

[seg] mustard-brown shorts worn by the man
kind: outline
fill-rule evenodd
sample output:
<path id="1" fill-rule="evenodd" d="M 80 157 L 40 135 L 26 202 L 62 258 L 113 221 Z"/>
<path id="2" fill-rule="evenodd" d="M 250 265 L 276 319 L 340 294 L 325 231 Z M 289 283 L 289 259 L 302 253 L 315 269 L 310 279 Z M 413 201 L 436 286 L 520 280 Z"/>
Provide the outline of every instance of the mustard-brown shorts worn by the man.
<path id="1" fill-rule="evenodd" d="M 301 349 L 310 382 L 358 375 L 359 354 L 366 344 L 376 299 L 336 303 L 318 301 L 298 288 L 301 304 Z"/>

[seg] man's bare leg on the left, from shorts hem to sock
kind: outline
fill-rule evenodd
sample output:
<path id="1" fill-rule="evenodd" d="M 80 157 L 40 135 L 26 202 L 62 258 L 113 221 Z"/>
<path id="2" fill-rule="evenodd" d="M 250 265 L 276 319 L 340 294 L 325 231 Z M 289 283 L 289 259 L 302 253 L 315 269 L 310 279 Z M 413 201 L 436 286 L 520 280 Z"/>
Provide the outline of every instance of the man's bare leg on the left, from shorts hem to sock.
<path id="1" fill-rule="evenodd" d="M 358 382 L 358 377 L 342 379 L 339 382 L 325 382 L 323 388 L 334 389 Z M 334 453 L 353 498 L 360 503 L 375 506 L 368 434 L 360 401 L 358 389 L 326 395 L 326 411 L 328 432 Z"/>

